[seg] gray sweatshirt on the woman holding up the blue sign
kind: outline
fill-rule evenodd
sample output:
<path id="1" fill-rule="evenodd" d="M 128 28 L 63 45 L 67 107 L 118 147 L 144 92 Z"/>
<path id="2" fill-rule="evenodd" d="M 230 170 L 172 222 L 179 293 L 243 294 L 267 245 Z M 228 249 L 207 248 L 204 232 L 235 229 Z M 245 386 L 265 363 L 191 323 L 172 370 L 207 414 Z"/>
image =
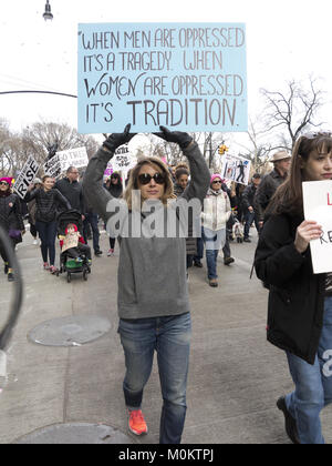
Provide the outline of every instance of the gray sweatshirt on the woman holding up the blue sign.
<path id="1" fill-rule="evenodd" d="M 210 182 L 208 166 L 196 142 L 191 142 L 184 154 L 188 158 L 191 181 L 181 197 L 186 201 L 198 200 L 201 206 Z M 83 180 L 87 202 L 105 223 L 115 214 L 107 212 L 112 195 L 103 188 L 103 174 L 112 156 L 111 152 L 101 148 L 90 160 Z M 176 209 L 177 202 L 174 201 L 172 209 Z M 169 206 L 162 209 L 164 215 L 168 214 Z M 181 212 L 181 206 L 178 206 L 179 221 Z M 133 215 L 131 211 L 127 214 L 128 217 Z M 143 222 L 146 220 L 144 215 L 139 217 Z M 148 226 L 145 225 L 143 230 L 148 230 Z M 120 317 L 147 318 L 189 312 L 185 237 L 147 236 L 128 237 L 121 234 L 117 271 Z"/>

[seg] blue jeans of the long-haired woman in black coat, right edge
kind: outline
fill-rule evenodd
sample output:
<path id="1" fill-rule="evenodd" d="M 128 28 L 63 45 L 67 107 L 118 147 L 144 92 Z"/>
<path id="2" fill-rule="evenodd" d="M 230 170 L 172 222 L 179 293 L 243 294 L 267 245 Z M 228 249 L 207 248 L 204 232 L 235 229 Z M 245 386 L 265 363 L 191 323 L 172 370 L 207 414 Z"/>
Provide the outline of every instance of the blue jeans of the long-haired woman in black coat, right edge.
<path id="1" fill-rule="evenodd" d="M 325 297 L 324 321 L 314 365 L 287 353 L 295 391 L 286 397 L 297 421 L 301 444 L 324 444 L 320 412 L 332 402 L 332 296 Z"/>

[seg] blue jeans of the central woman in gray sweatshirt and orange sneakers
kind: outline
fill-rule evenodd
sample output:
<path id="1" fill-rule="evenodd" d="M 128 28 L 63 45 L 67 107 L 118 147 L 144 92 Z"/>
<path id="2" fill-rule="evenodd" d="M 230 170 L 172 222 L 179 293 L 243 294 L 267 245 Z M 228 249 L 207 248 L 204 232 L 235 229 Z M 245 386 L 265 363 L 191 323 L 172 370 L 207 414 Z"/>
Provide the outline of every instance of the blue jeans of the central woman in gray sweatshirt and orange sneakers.
<path id="1" fill-rule="evenodd" d="M 186 418 L 186 388 L 191 336 L 190 313 L 165 317 L 120 320 L 126 375 L 123 383 L 128 409 L 141 409 L 143 391 L 157 353 L 163 394 L 160 444 L 179 444 Z"/>

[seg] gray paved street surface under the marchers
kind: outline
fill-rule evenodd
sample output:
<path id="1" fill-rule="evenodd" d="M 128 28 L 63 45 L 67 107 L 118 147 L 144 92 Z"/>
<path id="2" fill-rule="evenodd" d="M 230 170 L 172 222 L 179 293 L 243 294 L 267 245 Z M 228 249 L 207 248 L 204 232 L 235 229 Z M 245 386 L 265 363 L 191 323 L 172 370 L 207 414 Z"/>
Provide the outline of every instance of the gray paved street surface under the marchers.
<path id="1" fill-rule="evenodd" d="M 20 245 L 25 292 L 8 350 L 4 385 L 2 379 L 0 444 L 62 423 L 103 424 L 127 435 L 116 314 L 118 257 L 106 257 L 105 234 L 101 243 L 104 255 L 94 260 L 89 281 L 76 276 L 70 284 L 64 276 L 42 270 L 29 233 Z M 183 443 L 289 443 L 276 401 L 292 389 L 292 382 L 283 353 L 266 342 L 267 292 L 255 276 L 249 280 L 255 246 L 256 239 L 231 245 L 236 262 L 225 266 L 220 260 L 218 288 L 208 286 L 206 269 L 189 272 L 194 333 Z M 2 310 L 12 286 L 0 276 Z M 51 347 L 27 337 L 45 321 L 91 314 L 106 317 L 112 325 L 92 343 Z M 143 405 L 149 433 L 141 443 L 158 443 L 160 398 L 154 367 Z M 322 423 L 331 440 L 331 409 L 324 411 Z"/>

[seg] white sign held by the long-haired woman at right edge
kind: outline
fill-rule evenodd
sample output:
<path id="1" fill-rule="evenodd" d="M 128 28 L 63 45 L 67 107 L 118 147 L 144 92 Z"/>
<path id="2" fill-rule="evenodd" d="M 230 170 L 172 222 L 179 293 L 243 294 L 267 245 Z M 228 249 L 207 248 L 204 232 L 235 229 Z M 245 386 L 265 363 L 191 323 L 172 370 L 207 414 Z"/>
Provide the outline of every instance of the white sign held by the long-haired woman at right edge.
<path id="1" fill-rule="evenodd" d="M 313 273 L 332 272 L 332 181 L 302 183 L 304 219 L 318 222 L 323 230 L 310 242 Z"/>

